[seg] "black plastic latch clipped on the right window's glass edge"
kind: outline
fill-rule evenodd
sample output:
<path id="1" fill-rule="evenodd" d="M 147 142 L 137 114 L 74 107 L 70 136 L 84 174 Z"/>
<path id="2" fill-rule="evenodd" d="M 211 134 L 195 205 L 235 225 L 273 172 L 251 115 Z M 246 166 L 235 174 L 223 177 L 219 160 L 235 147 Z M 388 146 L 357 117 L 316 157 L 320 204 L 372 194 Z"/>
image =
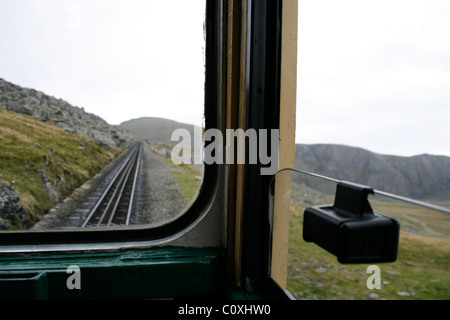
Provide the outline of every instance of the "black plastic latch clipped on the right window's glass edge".
<path id="1" fill-rule="evenodd" d="M 303 239 L 337 256 L 340 263 L 382 263 L 397 259 L 400 224 L 374 212 L 371 187 L 341 181 L 333 205 L 307 208 Z"/>

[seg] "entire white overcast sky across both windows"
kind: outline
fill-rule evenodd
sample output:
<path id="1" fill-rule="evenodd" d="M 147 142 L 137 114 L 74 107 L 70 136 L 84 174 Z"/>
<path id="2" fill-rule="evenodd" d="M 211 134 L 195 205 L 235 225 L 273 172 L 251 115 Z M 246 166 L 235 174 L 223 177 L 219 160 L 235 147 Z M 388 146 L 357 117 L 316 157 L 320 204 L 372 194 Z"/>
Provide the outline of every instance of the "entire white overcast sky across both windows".
<path id="1" fill-rule="evenodd" d="M 299 9 L 298 143 L 450 156 L 450 1 Z M 201 125 L 204 11 L 201 0 L 0 0 L 0 78 L 112 124 Z"/>

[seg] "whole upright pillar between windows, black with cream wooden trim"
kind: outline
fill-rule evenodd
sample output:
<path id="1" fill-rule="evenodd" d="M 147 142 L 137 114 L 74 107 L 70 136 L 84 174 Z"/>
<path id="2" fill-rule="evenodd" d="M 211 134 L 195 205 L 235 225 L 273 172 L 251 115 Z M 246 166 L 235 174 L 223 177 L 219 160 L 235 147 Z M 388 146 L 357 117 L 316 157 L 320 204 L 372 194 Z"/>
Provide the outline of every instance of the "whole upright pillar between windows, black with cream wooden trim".
<path id="1" fill-rule="evenodd" d="M 279 129 L 278 164 L 292 167 L 297 0 L 229 0 L 229 4 L 227 128 Z M 288 125 L 281 124 L 287 119 Z M 262 163 L 229 167 L 228 278 L 248 297 L 291 299 L 285 281 L 280 281 L 287 263 L 276 260 L 280 255 L 272 256 L 277 250 L 287 258 L 285 241 L 278 240 L 286 236 L 289 210 L 273 210 L 269 186 L 274 176 L 261 175 L 262 167 Z M 287 185 L 281 181 L 276 189 L 278 198 Z"/>

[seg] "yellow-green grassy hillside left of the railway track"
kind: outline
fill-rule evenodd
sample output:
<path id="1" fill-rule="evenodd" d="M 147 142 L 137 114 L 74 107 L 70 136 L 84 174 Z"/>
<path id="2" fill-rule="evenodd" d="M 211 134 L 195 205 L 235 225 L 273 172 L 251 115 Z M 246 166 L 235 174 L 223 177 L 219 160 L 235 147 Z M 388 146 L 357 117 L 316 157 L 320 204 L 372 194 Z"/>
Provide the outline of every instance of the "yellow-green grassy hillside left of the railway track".
<path id="1" fill-rule="evenodd" d="M 10 182 L 24 207 L 38 218 L 118 153 L 87 137 L 0 108 L 0 179 Z"/>

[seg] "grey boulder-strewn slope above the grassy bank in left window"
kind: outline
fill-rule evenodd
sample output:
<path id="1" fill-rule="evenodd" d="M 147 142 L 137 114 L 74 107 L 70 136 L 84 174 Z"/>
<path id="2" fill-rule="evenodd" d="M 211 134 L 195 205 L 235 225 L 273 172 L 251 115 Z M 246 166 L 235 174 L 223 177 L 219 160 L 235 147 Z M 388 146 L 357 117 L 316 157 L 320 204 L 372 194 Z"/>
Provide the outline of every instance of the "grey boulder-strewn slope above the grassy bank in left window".
<path id="1" fill-rule="evenodd" d="M 126 148 L 133 143 L 133 137 L 124 128 L 112 126 L 102 118 L 62 99 L 34 89 L 22 88 L 1 78 L 0 106 L 86 136 L 105 149 Z"/>

